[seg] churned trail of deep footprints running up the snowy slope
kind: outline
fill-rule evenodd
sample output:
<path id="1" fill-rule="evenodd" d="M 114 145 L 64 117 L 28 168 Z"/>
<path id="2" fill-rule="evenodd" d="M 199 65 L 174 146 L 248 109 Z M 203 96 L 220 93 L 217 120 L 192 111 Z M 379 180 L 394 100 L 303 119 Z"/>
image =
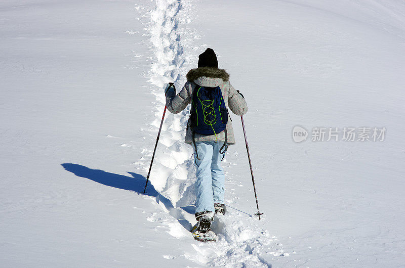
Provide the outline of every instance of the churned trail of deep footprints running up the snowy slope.
<path id="1" fill-rule="evenodd" d="M 186 81 L 185 74 L 190 68 L 195 68 L 193 64 L 195 65 L 198 54 L 205 49 L 200 46 L 194 51 L 188 51 L 188 57 L 183 54 L 183 40 L 193 40 L 196 37 L 189 30 L 178 30 L 179 20 L 191 20 L 187 12 L 181 12 L 182 8 L 189 8 L 189 5 L 176 0 L 157 0 L 156 7 L 150 12 L 148 31 L 154 58 L 148 76 L 155 85 L 152 93 L 156 96 L 156 118 L 152 123 L 151 138 L 155 137 L 166 103 L 161 88 L 165 83 L 174 81 L 178 93 Z M 187 63 L 187 60 L 190 62 Z M 229 267 L 271 266 L 261 255 L 279 256 L 284 251 L 266 248 L 274 237 L 260 229 L 257 219 L 246 212 L 228 208 L 225 216 L 216 217 L 213 224 L 213 230 L 219 237 L 216 243 L 207 245 L 192 240 L 189 231 L 196 223 L 193 206 L 195 167 L 193 150 L 184 143 L 188 114 L 189 107 L 176 115 L 167 112 L 150 175 L 151 186 L 159 192 L 156 202 L 161 205 L 162 210 L 153 212 L 147 219 L 167 226 L 168 232 L 174 237 L 189 239 L 195 255 L 185 256 L 197 263 Z M 150 149 L 145 148 L 145 160 L 139 163 L 146 172 L 152 155 Z"/>

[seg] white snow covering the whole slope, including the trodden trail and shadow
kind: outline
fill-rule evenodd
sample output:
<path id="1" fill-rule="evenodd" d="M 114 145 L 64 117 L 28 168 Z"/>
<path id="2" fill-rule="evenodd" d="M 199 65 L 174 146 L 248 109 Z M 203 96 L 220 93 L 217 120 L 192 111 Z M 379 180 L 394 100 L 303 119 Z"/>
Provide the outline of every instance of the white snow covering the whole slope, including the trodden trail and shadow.
<path id="1" fill-rule="evenodd" d="M 403 1 L 4 1 L 0 38 L 0 266 L 403 267 Z M 161 87 L 208 47 L 250 107 L 265 213 L 232 116 L 216 243 L 189 233 L 188 109 L 143 194 Z M 295 125 L 387 132 L 294 143 Z"/>

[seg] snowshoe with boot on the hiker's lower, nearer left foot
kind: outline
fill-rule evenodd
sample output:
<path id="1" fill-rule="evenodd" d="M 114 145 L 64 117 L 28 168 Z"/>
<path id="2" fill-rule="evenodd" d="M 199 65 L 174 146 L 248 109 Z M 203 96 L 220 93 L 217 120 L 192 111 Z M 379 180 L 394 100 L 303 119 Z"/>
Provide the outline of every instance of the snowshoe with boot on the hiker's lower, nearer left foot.
<path id="1" fill-rule="evenodd" d="M 201 242 L 216 241 L 216 235 L 211 231 L 213 212 L 203 211 L 195 213 L 197 224 L 192 228 L 191 233 L 195 240 Z"/>

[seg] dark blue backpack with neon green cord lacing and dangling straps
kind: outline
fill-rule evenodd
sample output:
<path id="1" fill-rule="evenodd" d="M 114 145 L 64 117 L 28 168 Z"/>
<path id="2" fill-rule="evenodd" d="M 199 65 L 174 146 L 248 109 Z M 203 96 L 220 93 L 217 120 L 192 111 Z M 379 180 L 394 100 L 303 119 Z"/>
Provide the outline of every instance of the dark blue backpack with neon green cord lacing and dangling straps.
<path id="1" fill-rule="evenodd" d="M 226 123 L 228 122 L 228 110 L 225 106 L 222 91 L 219 86 L 208 87 L 196 85 L 191 96 L 191 111 L 190 111 L 190 127 L 193 130 L 193 143 L 195 152 L 197 147 L 195 145 L 195 133 L 200 135 L 215 135 L 225 130 L 225 143 L 220 153 L 224 153 L 227 149 L 227 133 Z M 196 153 L 196 158 L 198 154 Z"/>

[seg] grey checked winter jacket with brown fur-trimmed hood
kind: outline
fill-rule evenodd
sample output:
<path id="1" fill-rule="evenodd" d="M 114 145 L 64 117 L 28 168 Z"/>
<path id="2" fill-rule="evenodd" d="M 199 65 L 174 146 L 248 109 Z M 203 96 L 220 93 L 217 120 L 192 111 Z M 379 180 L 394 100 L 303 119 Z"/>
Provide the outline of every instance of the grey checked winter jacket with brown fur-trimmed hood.
<path id="1" fill-rule="evenodd" d="M 200 67 L 191 69 L 187 73 L 187 82 L 184 84 L 179 94 L 168 92 L 166 96 L 166 105 L 168 110 L 174 114 L 180 113 L 191 102 L 191 94 L 197 85 L 216 87 L 219 86 L 222 91 L 222 96 L 226 107 L 236 115 L 244 115 L 248 112 L 248 106 L 245 99 L 236 92 L 235 88 L 229 83 L 229 74 L 223 70 L 212 67 Z M 235 144 L 235 136 L 233 134 L 232 122 L 228 114 L 228 123 L 226 124 L 228 144 Z M 192 143 L 192 128 L 190 120 L 186 131 L 185 142 Z M 217 134 L 218 141 L 225 141 L 225 131 Z M 200 135 L 195 133 L 195 142 L 215 141 L 215 135 Z"/>

